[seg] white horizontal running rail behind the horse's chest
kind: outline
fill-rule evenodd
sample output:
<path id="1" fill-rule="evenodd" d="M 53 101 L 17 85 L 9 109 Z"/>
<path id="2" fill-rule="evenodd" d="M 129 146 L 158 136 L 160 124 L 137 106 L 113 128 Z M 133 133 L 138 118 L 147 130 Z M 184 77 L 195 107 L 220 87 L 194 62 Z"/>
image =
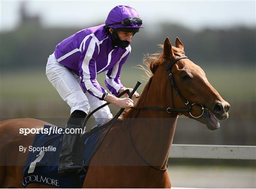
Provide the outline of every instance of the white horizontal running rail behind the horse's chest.
<path id="1" fill-rule="evenodd" d="M 256 146 L 172 144 L 169 157 L 256 160 Z"/>

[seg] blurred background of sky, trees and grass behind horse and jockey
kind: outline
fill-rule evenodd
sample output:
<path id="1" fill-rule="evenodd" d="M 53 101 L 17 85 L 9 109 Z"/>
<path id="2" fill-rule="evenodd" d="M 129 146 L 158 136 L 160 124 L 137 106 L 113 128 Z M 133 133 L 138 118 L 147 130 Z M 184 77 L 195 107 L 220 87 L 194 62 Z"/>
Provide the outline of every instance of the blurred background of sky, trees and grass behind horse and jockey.
<path id="1" fill-rule="evenodd" d="M 157 45 L 165 37 L 173 44 L 179 37 L 186 55 L 231 105 L 229 119 L 213 132 L 180 117 L 174 144 L 256 145 L 255 1 L 0 1 L 1 120 L 33 117 L 64 126 L 70 108 L 46 78 L 47 58 L 66 37 L 104 24 L 119 4 L 137 9 L 145 27 L 134 36 L 122 69 L 126 87 L 141 81 L 141 92 L 145 74 L 135 66 L 144 54 L 161 51 Z M 104 77 L 98 75 L 101 86 Z M 169 172 L 173 187 L 256 187 L 252 161 L 170 159 Z"/>

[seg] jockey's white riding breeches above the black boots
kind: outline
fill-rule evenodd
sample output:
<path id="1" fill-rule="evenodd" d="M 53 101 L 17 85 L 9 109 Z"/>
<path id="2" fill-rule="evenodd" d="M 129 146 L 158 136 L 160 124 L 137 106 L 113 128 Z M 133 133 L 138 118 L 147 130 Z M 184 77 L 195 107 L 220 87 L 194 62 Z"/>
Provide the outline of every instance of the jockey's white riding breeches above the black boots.
<path id="1" fill-rule="evenodd" d="M 83 92 L 81 79 L 74 72 L 69 71 L 64 65 L 58 63 L 54 54 L 51 54 L 46 64 L 46 76 L 60 94 L 61 98 L 70 106 L 72 113 L 81 110 L 88 114 L 102 104 L 106 103 L 92 96 L 89 92 Z M 106 118 L 112 118 L 110 108 L 105 106 L 93 114 L 97 122 Z"/>

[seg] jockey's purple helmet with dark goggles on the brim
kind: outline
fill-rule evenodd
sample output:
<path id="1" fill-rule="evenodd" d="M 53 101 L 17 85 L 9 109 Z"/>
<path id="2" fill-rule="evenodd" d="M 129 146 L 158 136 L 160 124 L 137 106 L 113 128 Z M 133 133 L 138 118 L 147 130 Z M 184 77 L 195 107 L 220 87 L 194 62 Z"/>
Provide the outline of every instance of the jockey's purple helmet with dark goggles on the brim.
<path id="1" fill-rule="evenodd" d="M 112 28 L 141 28 L 142 20 L 137 11 L 129 6 L 119 5 L 110 10 L 105 27 Z"/>

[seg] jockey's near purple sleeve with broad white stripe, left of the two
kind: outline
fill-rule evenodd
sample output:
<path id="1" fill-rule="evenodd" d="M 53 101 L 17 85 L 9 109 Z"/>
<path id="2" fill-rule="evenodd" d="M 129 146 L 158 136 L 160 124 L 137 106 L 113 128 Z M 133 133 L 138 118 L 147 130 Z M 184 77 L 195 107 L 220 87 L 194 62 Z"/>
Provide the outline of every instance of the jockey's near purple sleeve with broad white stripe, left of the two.
<path id="1" fill-rule="evenodd" d="M 83 91 L 88 91 L 91 95 L 103 100 L 107 92 L 100 86 L 96 80 L 96 57 L 99 53 L 98 39 L 95 36 L 90 36 L 83 42 L 82 56 L 79 62 L 79 76 Z"/>

